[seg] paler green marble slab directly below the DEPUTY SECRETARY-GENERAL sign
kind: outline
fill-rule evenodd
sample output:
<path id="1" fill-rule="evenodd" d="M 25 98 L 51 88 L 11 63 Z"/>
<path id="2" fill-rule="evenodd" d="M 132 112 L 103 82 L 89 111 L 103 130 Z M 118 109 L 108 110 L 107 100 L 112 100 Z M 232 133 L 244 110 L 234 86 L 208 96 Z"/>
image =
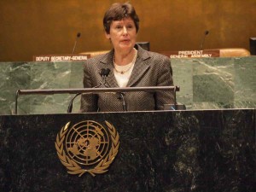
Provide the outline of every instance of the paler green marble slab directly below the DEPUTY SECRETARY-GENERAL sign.
<path id="1" fill-rule="evenodd" d="M 78 70 L 78 67 L 79 70 Z M 75 71 L 74 71 L 75 70 Z M 79 73 L 80 72 L 80 73 Z M 49 62 L 32 63 L 32 89 L 82 88 L 83 68 L 81 63 Z M 78 80 L 79 79 L 79 80 Z M 75 84 L 76 83 L 76 84 Z M 55 94 L 29 96 L 29 113 L 65 113 L 73 95 Z M 78 101 L 74 102 L 76 106 Z M 27 105 L 25 104 L 24 107 Z M 26 113 L 26 110 L 25 110 Z"/>

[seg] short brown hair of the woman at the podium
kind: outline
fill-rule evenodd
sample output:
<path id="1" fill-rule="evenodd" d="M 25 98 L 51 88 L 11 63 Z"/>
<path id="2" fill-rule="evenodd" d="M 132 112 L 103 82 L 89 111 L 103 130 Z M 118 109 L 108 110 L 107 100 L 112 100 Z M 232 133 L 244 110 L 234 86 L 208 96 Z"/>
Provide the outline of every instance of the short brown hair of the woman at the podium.
<path id="1" fill-rule="evenodd" d="M 131 17 L 136 26 L 136 31 L 139 29 L 139 18 L 135 9 L 130 3 L 113 3 L 111 7 L 106 11 L 103 18 L 103 26 L 105 32 L 109 34 L 110 25 L 113 20 L 122 20 L 124 18 Z"/>

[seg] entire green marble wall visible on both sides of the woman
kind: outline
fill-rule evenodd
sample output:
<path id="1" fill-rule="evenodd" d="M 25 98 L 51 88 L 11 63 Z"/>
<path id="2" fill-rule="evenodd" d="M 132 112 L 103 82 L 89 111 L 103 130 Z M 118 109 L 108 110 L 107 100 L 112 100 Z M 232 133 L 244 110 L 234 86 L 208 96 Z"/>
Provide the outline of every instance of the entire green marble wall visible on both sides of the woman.
<path id="1" fill-rule="evenodd" d="M 177 102 L 187 109 L 255 108 L 256 57 L 172 59 Z M 83 62 L 0 63 L 0 114 L 15 113 L 15 92 L 82 88 Z M 20 96 L 18 113 L 66 113 L 73 95 Z M 79 98 L 73 112 L 79 111 Z"/>

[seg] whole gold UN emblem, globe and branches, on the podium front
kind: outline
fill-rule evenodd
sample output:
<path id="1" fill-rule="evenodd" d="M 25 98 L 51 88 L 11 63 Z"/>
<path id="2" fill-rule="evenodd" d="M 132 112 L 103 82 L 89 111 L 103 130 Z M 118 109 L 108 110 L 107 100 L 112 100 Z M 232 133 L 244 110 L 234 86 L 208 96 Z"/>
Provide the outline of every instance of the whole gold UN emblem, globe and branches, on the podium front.
<path id="1" fill-rule="evenodd" d="M 70 122 L 57 134 L 55 148 L 67 172 L 81 177 L 108 172 L 119 149 L 119 133 L 105 121 L 108 129 L 96 121 L 86 120 L 73 125 Z"/>

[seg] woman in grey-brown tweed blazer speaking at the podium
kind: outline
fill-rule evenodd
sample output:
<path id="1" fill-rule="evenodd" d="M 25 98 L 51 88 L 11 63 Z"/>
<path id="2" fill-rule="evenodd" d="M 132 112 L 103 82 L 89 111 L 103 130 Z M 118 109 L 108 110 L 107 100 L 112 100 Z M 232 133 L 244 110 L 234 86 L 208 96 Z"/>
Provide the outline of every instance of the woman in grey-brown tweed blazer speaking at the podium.
<path id="1" fill-rule="evenodd" d="M 113 49 L 85 61 L 84 88 L 173 85 L 170 59 L 136 44 L 139 18 L 130 3 L 113 3 L 104 15 L 103 26 Z M 107 76 L 104 84 L 102 73 Z M 170 90 L 83 94 L 80 112 L 161 110 L 173 100 Z"/>

